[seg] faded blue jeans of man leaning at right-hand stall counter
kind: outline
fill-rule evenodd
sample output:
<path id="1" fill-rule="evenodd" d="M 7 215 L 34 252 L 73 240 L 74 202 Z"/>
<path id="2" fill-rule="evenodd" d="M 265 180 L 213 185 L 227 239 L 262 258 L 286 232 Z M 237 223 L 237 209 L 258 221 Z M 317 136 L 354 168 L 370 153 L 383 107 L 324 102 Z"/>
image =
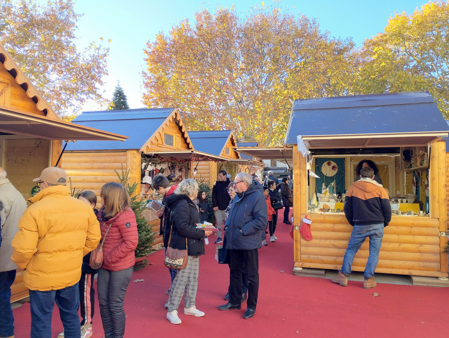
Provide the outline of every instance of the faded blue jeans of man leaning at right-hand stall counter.
<path id="1" fill-rule="evenodd" d="M 382 246 L 383 223 L 354 225 L 351 238 L 349 239 L 348 249 L 346 249 L 343 257 L 343 265 L 340 270 L 342 273 L 351 273 L 351 265 L 354 261 L 354 257 L 366 237 L 370 237 L 370 255 L 368 256 L 368 262 L 366 262 L 365 278 L 374 277 L 374 270 L 377 267 L 377 263 L 379 263 L 379 252 L 380 247 Z"/>

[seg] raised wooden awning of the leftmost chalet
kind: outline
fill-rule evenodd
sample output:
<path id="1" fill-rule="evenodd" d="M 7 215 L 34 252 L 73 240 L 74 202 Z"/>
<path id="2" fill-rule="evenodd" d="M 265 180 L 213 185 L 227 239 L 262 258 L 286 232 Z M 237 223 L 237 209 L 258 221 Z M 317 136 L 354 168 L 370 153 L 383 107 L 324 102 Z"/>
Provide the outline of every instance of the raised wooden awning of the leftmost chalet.
<path id="1" fill-rule="evenodd" d="M 47 140 L 119 140 L 128 136 L 104 132 L 44 116 L 21 112 L 12 108 L 0 108 L 0 132 L 13 135 L 38 137 Z"/>

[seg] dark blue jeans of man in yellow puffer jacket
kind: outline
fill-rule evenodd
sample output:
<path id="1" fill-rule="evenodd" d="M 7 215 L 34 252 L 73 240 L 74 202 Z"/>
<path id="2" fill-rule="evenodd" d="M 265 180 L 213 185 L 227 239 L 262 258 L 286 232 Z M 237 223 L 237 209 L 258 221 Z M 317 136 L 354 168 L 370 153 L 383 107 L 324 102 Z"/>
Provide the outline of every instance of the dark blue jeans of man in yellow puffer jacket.
<path id="1" fill-rule="evenodd" d="M 79 338 L 79 286 L 78 283 L 60 290 L 30 290 L 31 338 L 52 337 L 52 313 L 54 304 L 64 327 L 64 338 Z"/>

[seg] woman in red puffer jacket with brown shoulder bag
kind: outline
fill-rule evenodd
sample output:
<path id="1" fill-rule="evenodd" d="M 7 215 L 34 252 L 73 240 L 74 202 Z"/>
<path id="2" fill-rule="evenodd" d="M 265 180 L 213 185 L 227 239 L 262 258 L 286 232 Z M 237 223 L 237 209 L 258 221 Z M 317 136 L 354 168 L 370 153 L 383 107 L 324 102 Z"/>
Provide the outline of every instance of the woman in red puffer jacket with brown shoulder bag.
<path id="1" fill-rule="evenodd" d="M 103 206 L 97 217 L 100 221 L 101 241 L 104 240 L 104 244 L 103 264 L 98 270 L 98 303 L 105 338 L 123 338 L 123 303 L 136 261 L 136 215 L 130 207 L 131 198 L 128 191 L 122 184 L 106 183 L 101 187 L 100 197 Z"/>

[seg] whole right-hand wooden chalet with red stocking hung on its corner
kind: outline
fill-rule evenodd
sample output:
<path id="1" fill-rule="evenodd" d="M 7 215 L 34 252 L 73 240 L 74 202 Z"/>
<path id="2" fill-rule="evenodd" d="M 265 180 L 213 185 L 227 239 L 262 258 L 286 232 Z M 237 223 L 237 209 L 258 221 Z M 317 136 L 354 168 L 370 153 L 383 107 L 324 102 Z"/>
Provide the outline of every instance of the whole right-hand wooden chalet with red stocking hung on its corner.
<path id="1" fill-rule="evenodd" d="M 448 130 L 428 92 L 295 100 L 285 140 L 294 162 L 295 274 L 303 268 L 341 268 L 352 227 L 338 196 L 355 180 L 357 163 L 372 159 L 382 172 L 393 213 L 376 272 L 447 278 L 446 147 L 441 139 Z M 309 180 L 310 171 L 319 178 Z M 314 198 L 325 190 L 335 193 L 326 206 Z M 305 215 L 313 220 L 311 241 L 299 234 Z M 368 246 L 367 239 L 352 270 L 364 270 Z"/>

